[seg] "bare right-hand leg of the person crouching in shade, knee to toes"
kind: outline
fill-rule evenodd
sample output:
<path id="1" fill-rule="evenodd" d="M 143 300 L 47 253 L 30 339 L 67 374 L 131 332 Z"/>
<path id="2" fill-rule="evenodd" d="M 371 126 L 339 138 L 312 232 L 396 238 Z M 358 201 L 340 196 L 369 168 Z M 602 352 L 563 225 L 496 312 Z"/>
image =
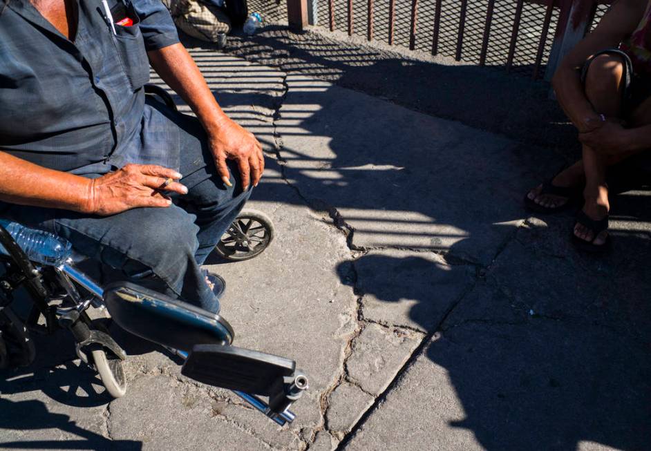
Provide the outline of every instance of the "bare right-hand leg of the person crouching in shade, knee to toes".
<path id="1" fill-rule="evenodd" d="M 621 117 L 621 90 L 623 89 L 623 61 L 616 55 L 600 55 L 592 61 L 585 79 L 585 95 L 597 113 L 607 117 Z M 609 161 L 610 160 L 610 161 Z M 611 159 L 598 155 L 592 148 L 583 146 L 585 189 L 583 211 L 594 220 L 605 218 L 610 210 L 606 168 Z M 574 235 L 596 245 L 605 243 L 607 231 L 596 238 L 582 224 L 574 226 Z"/>

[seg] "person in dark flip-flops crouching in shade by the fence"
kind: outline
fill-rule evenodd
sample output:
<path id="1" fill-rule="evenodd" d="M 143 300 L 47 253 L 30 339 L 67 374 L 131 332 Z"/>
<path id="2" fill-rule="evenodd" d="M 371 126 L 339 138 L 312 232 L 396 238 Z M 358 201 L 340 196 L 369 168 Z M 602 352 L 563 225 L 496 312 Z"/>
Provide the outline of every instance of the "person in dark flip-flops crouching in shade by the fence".
<path id="1" fill-rule="evenodd" d="M 651 148 L 651 1 L 615 1 L 563 59 L 554 90 L 583 144 L 583 159 L 529 191 L 529 209 L 554 213 L 582 200 L 572 242 L 604 251 L 610 166 Z"/>

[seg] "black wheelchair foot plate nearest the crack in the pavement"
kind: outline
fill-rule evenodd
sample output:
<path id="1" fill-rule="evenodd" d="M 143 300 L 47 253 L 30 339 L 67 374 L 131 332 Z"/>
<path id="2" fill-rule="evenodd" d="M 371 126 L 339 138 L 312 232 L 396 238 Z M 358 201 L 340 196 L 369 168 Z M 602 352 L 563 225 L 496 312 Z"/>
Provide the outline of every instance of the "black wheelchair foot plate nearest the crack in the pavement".
<path id="1" fill-rule="evenodd" d="M 308 388 L 308 378 L 288 358 L 231 345 L 195 345 L 181 368 L 195 381 L 269 396 L 270 409 L 284 412 Z"/>

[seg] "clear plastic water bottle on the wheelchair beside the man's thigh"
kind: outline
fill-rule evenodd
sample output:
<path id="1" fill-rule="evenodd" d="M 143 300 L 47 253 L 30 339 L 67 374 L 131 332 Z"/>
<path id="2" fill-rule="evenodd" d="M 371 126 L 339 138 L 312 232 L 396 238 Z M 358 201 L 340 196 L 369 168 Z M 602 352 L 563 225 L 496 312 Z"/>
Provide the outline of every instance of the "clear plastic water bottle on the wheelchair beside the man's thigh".
<path id="1" fill-rule="evenodd" d="M 70 242 L 53 233 L 28 229 L 17 222 L 8 220 L 0 220 L 0 225 L 7 229 L 23 252 L 34 262 L 43 265 L 57 265 L 64 262 L 72 253 Z M 9 255 L 2 244 L 0 244 L 0 252 L 6 256 Z"/>

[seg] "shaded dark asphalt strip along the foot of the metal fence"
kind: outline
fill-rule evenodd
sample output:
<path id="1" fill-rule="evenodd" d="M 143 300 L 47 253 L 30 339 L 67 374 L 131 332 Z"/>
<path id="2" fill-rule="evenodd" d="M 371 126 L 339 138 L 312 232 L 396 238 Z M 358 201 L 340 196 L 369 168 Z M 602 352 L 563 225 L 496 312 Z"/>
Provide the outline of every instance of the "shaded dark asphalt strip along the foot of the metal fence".
<path id="1" fill-rule="evenodd" d="M 213 48 L 186 35 L 182 41 L 190 47 Z M 569 151 L 564 148 L 574 137 L 574 128 L 549 98 L 549 84 L 544 81 L 445 57 L 410 59 L 316 32 L 296 34 L 283 26 L 265 26 L 252 37 L 230 36 L 226 51 L 522 142 L 558 147 L 568 159 L 580 150 L 576 145 Z"/>

